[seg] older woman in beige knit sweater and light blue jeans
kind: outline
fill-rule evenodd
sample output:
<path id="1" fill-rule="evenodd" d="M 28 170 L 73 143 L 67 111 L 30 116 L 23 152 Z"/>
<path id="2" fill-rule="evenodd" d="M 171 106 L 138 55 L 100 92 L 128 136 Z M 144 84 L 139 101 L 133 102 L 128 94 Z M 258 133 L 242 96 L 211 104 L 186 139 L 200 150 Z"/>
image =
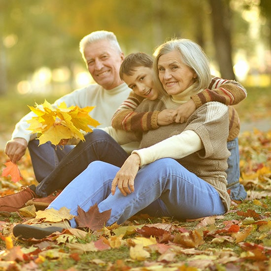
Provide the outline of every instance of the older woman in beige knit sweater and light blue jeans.
<path id="1" fill-rule="evenodd" d="M 174 109 L 210 82 L 203 50 L 188 39 L 159 46 L 154 70 L 164 95 L 160 100 L 144 100 L 136 111 Z M 92 162 L 48 208 L 66 206 L 77 215 L 78 206 L 88 211 L 97 203 L 100 212 L 111 209 L 107 225 L 120 224 L 152 206 L 160 215 L 175 219 L 224 214 L 230 206 L 225 173 L 230 155 L 228 133 L 228 107 L 205 103 L 185 123 L 143 132 L 140 149 L 121 168 Z M 74 219 L 69 224 L 77 226 Z M 42 238 L 55 230 L 38 224 L 17 225 L 13 233 Z"/>

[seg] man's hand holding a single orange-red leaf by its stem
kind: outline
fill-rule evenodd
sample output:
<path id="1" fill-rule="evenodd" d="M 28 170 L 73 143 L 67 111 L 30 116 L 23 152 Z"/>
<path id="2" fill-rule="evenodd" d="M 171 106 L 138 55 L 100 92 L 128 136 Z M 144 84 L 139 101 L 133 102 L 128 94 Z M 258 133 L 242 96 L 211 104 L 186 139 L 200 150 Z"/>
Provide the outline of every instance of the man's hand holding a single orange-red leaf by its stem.
<path id="1" fill-rule="evenodd" d="M 26 153 L 27 141 L 22 137 L 15 137 L 7 141 L 5 145 L 5 154 L 9 157 L 12 163 L 19 161 Z"/>

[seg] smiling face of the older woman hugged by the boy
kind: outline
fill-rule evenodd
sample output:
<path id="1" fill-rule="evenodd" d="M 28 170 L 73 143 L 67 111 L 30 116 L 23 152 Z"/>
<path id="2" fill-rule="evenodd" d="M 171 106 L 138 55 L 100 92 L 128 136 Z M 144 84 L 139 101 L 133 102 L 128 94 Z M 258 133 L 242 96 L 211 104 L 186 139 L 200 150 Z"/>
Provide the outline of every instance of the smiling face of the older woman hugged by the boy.
<path id="1" fill-rule="evenodd" d="M 169 95 L 177 95 L 190 87 L 197 77 L 196 72 L 181 61 L 175 50 L 160 56 L 158 74 L 164 89 Z"/>

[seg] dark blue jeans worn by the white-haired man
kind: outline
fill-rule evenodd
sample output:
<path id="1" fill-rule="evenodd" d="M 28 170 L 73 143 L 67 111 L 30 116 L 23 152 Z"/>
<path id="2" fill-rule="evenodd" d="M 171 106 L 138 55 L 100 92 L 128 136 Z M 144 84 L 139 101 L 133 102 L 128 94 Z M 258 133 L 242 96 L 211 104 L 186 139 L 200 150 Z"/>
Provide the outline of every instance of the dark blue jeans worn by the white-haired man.
<path id="1" fill-rule="evenodd" d="M 65 146 L 64 150 L 55 150 L 51 143 L 37 147 L 38 140 L 31 141 L 29 149 L 34 172 L 36 178 L 43 177 L 35 191 L 39 197 L 46 197 L 55 190 L 65 188 L 93 161 L 100 160 L 121 167 L 128 157 L 126 151 L 100 129 L 85 135 L 85 139 L 74 148 Z M 66 147 L 68 154 L 65 155 Z"/>

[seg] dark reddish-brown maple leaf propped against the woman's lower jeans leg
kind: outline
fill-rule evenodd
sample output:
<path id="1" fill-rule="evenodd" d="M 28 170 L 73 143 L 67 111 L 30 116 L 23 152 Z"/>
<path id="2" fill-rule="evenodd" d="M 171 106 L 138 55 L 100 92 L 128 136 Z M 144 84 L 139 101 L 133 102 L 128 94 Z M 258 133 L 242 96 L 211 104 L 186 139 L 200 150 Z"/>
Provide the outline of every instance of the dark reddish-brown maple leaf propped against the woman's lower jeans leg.
<path id="1" fill-rule="evenodd" d="M 100 213 L 98 205 L 95 203 L 87 212 L 78 206 L 78 215 L 74 218 L 79 228 L 88 228 L 92 231 L 97 231 L 102 229 L 110 218 L 110 215 L 111 209 Z"/>

